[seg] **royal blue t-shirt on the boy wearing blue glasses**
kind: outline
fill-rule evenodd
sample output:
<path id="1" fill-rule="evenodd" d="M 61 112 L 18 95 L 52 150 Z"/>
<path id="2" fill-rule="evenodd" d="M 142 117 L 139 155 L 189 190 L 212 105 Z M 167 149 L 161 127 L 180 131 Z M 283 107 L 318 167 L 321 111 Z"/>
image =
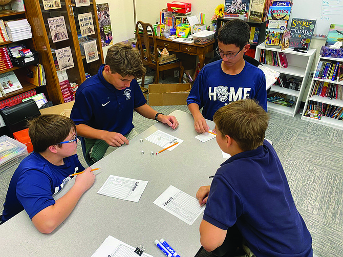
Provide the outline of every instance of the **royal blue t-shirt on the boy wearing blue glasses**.
<path id="1" fill-rule="evenodd" d="M 2 222 L 24 209 L 32 219 L 42 209 L 55 204 L 52 196 L 71 179 L 69 175 L 84 170 L 77 155 L 66 157 L 63 162 L 54 165 L 36 152 L 20 162 L 8 187 Z"/>

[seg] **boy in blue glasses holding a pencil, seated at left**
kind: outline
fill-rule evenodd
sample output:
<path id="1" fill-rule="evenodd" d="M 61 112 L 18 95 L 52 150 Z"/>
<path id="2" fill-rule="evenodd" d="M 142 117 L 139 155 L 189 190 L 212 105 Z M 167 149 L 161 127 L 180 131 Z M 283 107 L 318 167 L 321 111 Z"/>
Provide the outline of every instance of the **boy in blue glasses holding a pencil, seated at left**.
<path id="1" fill-rule="evenodd" d="M 61 115 L 45 114 L 30 121 L 33 153 L 15 170 L 10 181 L 0 224 L 26 210 L 41 233 L 51 233 L 72 212 L 82 194 L 95 180 L 91 168 L 84 169 L 77 152 L 74 121 Z M 75 184 L 58 200 L 53 199 L 77 175 Z"/>

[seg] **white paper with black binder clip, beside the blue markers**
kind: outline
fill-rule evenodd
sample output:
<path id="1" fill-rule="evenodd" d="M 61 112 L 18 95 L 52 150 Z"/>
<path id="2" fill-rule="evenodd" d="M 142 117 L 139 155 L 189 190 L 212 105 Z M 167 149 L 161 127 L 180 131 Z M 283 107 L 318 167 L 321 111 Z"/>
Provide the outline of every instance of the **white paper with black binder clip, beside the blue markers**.
<path id="1" fill-rule="evenodd" d="M 135 249 L 131 245 L 125 244 L 109 235 L 93 253 L 92 257 L 137 257 Z M 145 252 L 141 256 L 153 257 Z"/>

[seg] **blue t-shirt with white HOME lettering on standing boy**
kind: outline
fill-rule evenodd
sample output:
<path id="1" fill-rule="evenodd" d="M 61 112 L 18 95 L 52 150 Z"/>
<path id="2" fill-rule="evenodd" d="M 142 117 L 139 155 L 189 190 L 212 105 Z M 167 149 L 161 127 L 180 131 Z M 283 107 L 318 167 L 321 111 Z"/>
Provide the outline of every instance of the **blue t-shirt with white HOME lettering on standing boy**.
<path id="1" fill-rule="evenodd" d="M 197 103 L 203 108 L 205 119 L 213 120 L 213 115 L 224 105 L 241 99 L 255 99 L 267 111 L 266 77 L 263 71 L 249 62 L 237 75 L 223 72 L 222 60 L 205 65 L 197 76 L 187 98 L 189 103 Z"/>

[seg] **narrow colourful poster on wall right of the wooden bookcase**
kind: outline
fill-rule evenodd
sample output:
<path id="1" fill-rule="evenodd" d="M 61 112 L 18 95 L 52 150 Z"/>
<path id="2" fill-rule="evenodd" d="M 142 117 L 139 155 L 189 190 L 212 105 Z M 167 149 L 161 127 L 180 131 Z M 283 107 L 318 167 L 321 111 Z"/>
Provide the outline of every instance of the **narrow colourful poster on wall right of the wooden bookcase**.
<path id="1" fill-rule="evenodd" d="M 96 5 L 102 47 L 112 45 L 112 29 L 109 4 Z"/>

